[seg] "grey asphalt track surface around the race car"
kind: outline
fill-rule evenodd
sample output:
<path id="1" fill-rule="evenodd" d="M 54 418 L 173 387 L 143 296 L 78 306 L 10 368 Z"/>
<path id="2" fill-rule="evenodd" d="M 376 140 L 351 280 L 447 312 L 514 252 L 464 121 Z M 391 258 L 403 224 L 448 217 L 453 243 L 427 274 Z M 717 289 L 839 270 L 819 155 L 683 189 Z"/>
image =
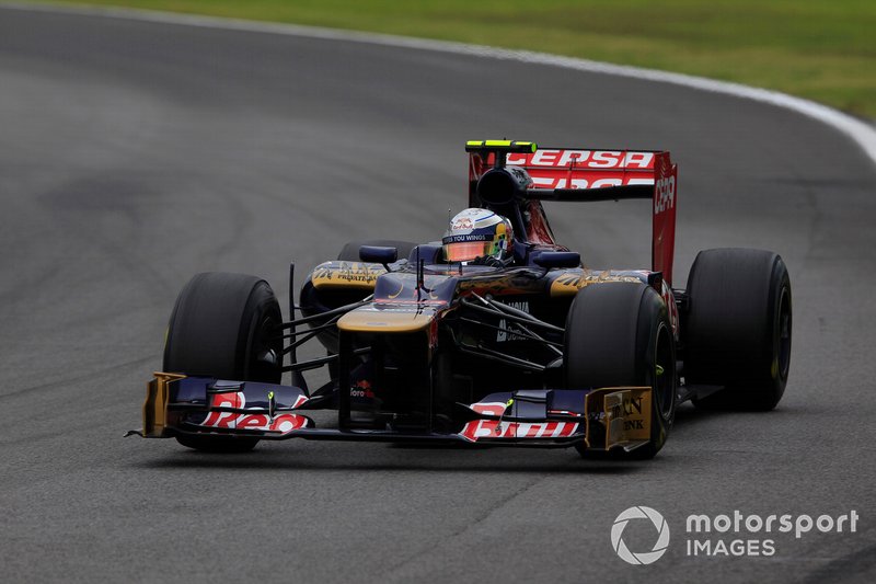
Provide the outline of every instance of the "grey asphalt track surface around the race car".
<path id="1" fill-rule="evenodd" d="M 700 249 L 781 253 L 795 330 L 780 406 L 685 405 L 658 458 L 636 463 L 306 442 L 207 456 L 122 438 L 140 425 L 192 274 L 253 273 L 285 297 L 291 260 L 307 270 L 347 240 L 435 239 L 464 205 L 463 141 L 502 136 L 671 150 L 677 285 Z M 2 580 L 869 580 L 875 180 L 830 127 L 721 94 L 0 10 Z M 588 265 L 647 265 L 642 203 L 549 213 Z M 671 530 L 649 566 L 612 551 L 611 525 L 633 505 Z M 684 518 L 734 509 L 861 518 L 854 534 L 772 534 L 772 557 L 689 557 Z M 654 530 L 625 537 L 647 549 Z"/>

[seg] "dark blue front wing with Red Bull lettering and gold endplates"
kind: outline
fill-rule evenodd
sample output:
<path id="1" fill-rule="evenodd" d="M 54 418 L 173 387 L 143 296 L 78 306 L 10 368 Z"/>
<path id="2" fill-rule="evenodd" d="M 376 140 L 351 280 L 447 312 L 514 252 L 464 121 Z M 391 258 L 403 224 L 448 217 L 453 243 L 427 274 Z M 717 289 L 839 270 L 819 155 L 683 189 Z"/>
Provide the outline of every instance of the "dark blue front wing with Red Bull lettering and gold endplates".
<path id="1" fill-rule="evenodd" d="M 590 450 L 633 450 L 648 443 L 652 389 L 538 389 L 498 392 L 472 404 L 453 431 L 316 428 L 306 414 L 323 409 L 323 397 L 276 383 L 231 381 L 155 373 L 147 385 L 145 438 L 178 435 L 249 436 L 260 439 L 326 439 L 447 443 L 489 446 L 584 446 Z"/>

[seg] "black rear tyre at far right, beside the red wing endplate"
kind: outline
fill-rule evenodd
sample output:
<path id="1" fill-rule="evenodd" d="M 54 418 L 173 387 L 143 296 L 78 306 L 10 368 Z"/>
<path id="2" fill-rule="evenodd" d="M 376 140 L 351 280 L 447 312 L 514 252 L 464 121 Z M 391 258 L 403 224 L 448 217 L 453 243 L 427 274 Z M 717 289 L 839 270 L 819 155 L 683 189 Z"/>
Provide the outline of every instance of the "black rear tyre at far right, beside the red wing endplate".
<path id="1" fill-rule="evenodd" d="M 763 250 L 701 251 L 688 278 L 684 378 L 724 386 L 700 408 L 772 410 L 791 367 L 791 279 L 777 254 Z"/>

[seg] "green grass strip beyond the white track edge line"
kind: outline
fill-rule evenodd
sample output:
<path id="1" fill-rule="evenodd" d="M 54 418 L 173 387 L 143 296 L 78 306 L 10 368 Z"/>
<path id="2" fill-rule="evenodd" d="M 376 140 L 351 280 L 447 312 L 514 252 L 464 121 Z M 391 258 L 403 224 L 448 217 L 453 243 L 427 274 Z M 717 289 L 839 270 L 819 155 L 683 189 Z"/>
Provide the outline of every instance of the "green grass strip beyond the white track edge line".
<path id="1" fill-rule="evenodd" d="M 876 0 L 76 3 L 376 31 L 572 55 L 776 89 L 876 118 Z"/>

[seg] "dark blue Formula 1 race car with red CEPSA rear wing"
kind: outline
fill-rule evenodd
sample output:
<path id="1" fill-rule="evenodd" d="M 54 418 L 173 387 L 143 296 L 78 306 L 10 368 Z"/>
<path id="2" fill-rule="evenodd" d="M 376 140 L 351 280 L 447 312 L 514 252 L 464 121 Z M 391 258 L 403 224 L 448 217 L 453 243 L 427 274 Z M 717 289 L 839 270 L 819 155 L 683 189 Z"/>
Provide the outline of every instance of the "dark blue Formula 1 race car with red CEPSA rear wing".
<path id="1" fill-rule="evenodd" d="M 173 308 L 143 428 L 211 451 L 262 439 L 574 446 L 652 458 L 678 403 L 769 410 L 791 360 L 791 284 L 772 252 L 696 256 L 672 288 L 677 165 L 665 151 L 466 144 L 469 208 L 441 241 L 348 243 L 284 321 L 254 276 L 198 274 Z M 649 270 L 595 270 L 542 201 L 650 201 Z M 299 360 L 311 340 L 324 357 Z M 303 374 L 327 367 L 311 388 Z M 284 373 L 291 383 L 281 385 Z M 308 415 L 337 410 L 336 427 Z M 332 424 L 334 426 L 334 424 Z"/>

